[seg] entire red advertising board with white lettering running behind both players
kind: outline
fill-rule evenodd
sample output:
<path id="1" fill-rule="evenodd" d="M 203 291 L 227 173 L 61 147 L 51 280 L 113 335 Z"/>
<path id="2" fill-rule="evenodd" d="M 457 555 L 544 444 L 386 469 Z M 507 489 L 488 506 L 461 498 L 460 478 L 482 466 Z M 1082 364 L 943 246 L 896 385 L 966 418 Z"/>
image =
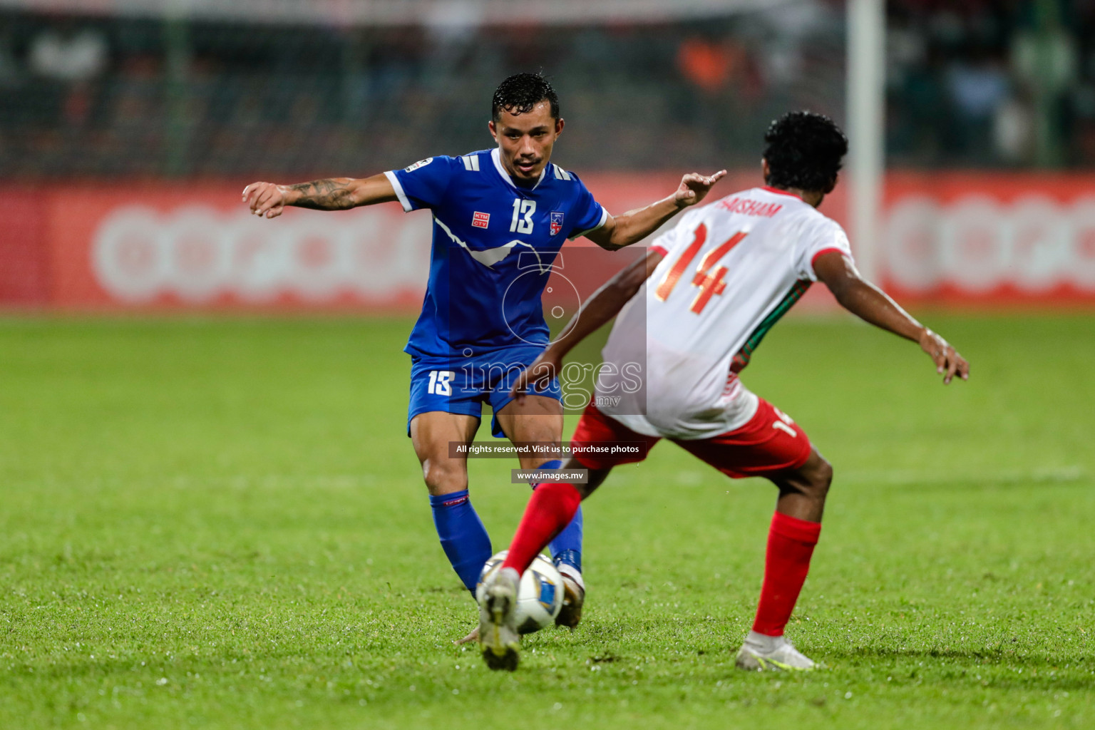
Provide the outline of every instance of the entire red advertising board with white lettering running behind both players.
<path id="1" fill-rule="evenodd" d="M 757 185 L 757 177 L 751 171 L 731 174 L 716 192 Z M 610 211 L 622 212 L 669 194 L 680 177 L 584 179 Z M 289 209 L 261 220 L 240 201 L 242 187 L 0 188 L 0 305 L 417 309 L 429 266 L 427 211 L 403 213 L 392 204 L 337 212 Z M 845 204 L 838 186 L 822 211 L 843 222 Z M 1095 175 L 890 173 L 885 206 L 876 258 L 881 283 L 902 301 L 1095 304 Z M 577 241 L 567 247 L 591 245 Z M 566 275 L 589 291 L 630 260 L 588 254 L 583 252 L 581 270 Z"/>

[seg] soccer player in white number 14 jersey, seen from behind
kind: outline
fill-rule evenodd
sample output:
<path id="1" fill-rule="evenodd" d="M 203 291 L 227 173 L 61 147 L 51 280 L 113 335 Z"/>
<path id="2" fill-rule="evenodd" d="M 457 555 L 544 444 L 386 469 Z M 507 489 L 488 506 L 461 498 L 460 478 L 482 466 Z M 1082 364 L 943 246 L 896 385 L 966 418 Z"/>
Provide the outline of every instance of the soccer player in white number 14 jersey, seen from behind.
<path id="1" fill-rule="evenodd" d="M 509 555 L 485 580 L 480 635 L 492 669 L 517 665 L 518 577 L 614 465 L 642 461 L 660 439 L 727 476 L 763 476 L 779 488 L 757 617 L 736 663 L 812 669 L 783 631 L 821 531 L 832 467 L 798 425 L 738 374 L 780 317 L 821 280 L 849 311 L 918 343 L 944 383 L 969 376 L 969 364 L 946 340 L 860 277 L 844 231 L 818 211 L 848 151 L 837 125 L 793 112 L 773 121 L 764 140 L 763 187 L 687 213 L 645 260 L 598 290 L 515 385 L 517 393 L 544 386 L 574 345 L 619 314 L 565 467 L 588 470 L 588 483 L 539 485 Z M 606 445 L 623 442 L 642 448 L 606 454 Z"/>

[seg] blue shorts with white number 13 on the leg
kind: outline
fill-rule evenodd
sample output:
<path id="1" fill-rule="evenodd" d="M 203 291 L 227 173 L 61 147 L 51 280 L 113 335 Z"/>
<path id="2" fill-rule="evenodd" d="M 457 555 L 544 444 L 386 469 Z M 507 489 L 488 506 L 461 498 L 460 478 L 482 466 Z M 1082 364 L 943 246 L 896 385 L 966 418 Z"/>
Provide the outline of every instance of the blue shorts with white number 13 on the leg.
<path id="1" fill-rule="evenodd" d="M 511 347 L 493 357 L 475 360 L 445 360 L 412 355 L 407 436 L 411 436 L 411 419 L 420 413 L 441 410 L 480 418 L 483 404 L 489 403 L 494 412 L 491 432 L 498 438 L 505 437 L 498 425 L 498 412 L 512 401 L 509 389 L 514 386 L 521 370 L 541 352 L 542 347 L 533 346 Z M 550 387 L 537 391 L 535 394 L 561 399 L 558 379 L 553 380 Z"/>

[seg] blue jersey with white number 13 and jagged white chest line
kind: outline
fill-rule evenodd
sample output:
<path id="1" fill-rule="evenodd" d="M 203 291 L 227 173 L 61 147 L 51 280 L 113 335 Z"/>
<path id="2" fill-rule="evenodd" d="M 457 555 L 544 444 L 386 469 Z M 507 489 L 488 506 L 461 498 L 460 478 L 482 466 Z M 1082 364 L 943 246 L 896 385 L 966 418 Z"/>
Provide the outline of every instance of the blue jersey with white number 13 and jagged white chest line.
<path id="1" fill-rule="evenodd" d="M 497 149 L 427 158 L 384 174 L 403 210 L 434 213 L 429 283 L 404 350 L 480 359 L 546 346 L 540 298 L 552 263 L 567 239 L 608 219 L 578 176 L 549 163 L 534 186 L 520 187 Z"/>

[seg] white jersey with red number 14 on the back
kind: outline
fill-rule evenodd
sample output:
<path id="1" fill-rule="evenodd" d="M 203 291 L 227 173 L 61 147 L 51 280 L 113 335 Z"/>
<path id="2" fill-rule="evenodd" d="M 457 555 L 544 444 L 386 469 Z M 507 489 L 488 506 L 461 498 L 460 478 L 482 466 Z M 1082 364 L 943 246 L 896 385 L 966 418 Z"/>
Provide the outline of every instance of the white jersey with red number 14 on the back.
<path id="1" fill-rule="evenodd" d="M 685 213 L 665 258 L 616 316 L 597 407 L 633 431 L 705 439 L 748 422 L 738 381 L 772 325 L 817 281 L 814 259 L 851 256 L 839 223 L 798 196 L 754 187 Z"/>

